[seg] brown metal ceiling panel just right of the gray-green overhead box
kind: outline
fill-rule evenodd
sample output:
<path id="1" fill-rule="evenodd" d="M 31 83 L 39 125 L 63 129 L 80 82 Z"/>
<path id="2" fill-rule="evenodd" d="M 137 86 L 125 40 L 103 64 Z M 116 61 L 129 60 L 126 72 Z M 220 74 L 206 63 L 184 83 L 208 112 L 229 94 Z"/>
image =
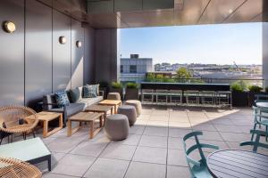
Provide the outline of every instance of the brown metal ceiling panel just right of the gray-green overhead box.
<path id="1" fill-rule="evenodd" d="M 175 25 L 194 25 L 200 19 L 205 7 L 210 0 L 185 0 L 182 9 L 175 9 L 174 21 Z M 178 5 L 178 4 L 177 4 Z M 176 1 L 175 1 L 175 7 Z"/>

